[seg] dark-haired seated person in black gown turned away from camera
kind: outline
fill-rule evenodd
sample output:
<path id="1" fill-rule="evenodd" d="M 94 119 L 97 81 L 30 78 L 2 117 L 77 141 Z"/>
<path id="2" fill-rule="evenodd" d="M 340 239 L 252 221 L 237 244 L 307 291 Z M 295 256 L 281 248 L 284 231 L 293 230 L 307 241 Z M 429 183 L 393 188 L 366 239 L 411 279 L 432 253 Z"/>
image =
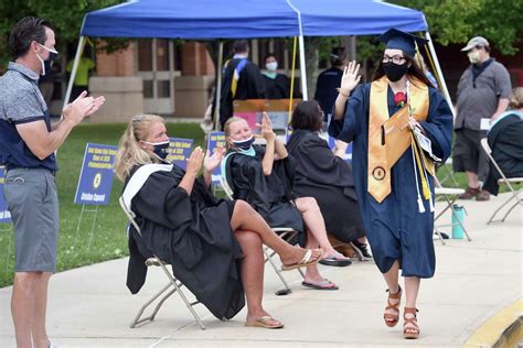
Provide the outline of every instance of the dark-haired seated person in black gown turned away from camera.
<path id="1" fill-rule="evenodd" d="M 323 122 L 316 100 L 301 101 L 292 112 L 292 135 L 287 151 L 296 160 L 292 189 L 299 197 L 314 197 L 327 231 L 351 243 L 361 260 L 372 260 L 361 218 L 352 166 L 334 155 L 318 135 Z"/>

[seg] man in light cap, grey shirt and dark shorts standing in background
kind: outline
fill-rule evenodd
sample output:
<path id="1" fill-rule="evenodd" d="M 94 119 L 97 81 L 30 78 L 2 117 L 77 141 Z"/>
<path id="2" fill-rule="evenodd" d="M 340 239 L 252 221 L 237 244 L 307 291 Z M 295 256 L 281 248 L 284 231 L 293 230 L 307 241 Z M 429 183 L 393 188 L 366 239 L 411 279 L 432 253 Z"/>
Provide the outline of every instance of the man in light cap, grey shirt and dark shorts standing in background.
<path id="1" fill-rule="evenodd" d="M 474 36 L 461 51 L 467 53 L 470 66 L 458 84 L 452 166 L 455 172 L 467 173 L 468 187 L 459 198 L 489 200 L 490 194 L 480 185 L 489 172 L 481 149 L 481 139 L 487 137 L 481 119 L 493 121 L 505 111 L 512 86 L 506 68 L 490 57 L 487 39 Z"/>

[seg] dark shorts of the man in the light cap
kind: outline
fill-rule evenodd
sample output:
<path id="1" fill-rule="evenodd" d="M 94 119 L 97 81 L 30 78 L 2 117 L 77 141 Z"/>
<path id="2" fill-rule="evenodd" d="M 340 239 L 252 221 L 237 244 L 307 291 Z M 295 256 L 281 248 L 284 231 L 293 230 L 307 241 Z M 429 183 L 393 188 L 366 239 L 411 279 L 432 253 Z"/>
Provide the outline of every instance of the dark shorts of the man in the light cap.
<path id="1" fill-rule="evenodd" d="M 481 148 L 481 139 L 487 138 L 483 131 L 471 129 L 456 130 L 452 150 L 452 168 L 455 172 L 471 172 L 478 174 L 484 182 L 489 174 L 489 159 Z"/>

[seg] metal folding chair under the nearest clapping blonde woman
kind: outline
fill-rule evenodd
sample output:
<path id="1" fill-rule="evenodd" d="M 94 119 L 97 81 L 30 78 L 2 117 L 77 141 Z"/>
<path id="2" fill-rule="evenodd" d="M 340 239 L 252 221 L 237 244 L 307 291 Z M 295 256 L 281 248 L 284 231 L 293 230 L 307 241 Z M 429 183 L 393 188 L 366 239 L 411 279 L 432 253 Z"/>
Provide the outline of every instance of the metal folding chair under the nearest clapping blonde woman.
<path id="1" fill-rule="evenodd" d="M 125 195 L 125 192 L 124 192 L 124 195 Z M 130 200 L 129 200 L 130 202 Z M 121 206 L 121 209 L 124 210 L 124 213 L 126 214 L 127 218 L 129 219 L 129 227 L 128 227 L 128 233 L 130 232 L 130 228 L 131 226 L 135 227 L 135 229 L 137 230 L 138 235 L 140 235 L 141 237 L 141 231 L 140 231 L 140 227 L 138 226 L 138 224 L 136 222 L 135 218 L 136 218 L 136 215 L 135 213 L 132 213 L 132 210 L 127 206 L 126 204 L 126 200 L 124 199 L 124 196 L 121 196 L 119 198 L 119 203 L 120 203 L 120 206 Z M 130 236 L 128 236 L 130 237 Z M 172 294 L 174 294 L 177 291 L 178 291 L 178 294 L 180 295 L 180 297 L 182 298 L 183 303 L 185 304 L 185 306 L 188 307 L 188 309 L 191 312 L 191 314 L 193 315 L 194 319 L 196 320 L 198 325 L 200 325 L 200 328 L 202 330 L 205 329 L 205 326 L 203 325 L 202 323 L 202 319 L 200 318 L 200 316 L 196 314 L 196 312 L 194 311 L 193 306 L 199 304 L 200 302 L 199 301 L 195 301 L 195 302 L 189 302 L 189 300 L 185 297 L 185 294 L 182 292 L 181 287 L 183 286 L 183 284 L 171 273 L 169 272 L 169 270 L 167 269 L 167 265 L 162 260 L 160 260 L 157 255 L 153 254 L 152 258 L 149 258 L 146 260 L 146 265 L 147 267 L 160 267 L 163 271 L 163 273 L 166 273 L 167 278 L 169 279 L 169 283 L 167 283 L 167 285 L 160 290 L 157 294 L 154 294 L 149 301 L 147 301 L 142 306 L 141 308 L 138 311 L 135 319 L 132 320 L 132 323 L 130 324 L 130 327 L 131 328 L 135 328 L 137 325 L 141 324 L 141 323 L 145 323 L 145 322 L 152 322 L 154 320 L 154 317 L 158 313 L 158 311 L 160 311 L 160 307 L 163 305 L 163 302 L 166 302 L 167 298 L 169 298 Z M 167 294 L 166 294 L 167 293 Z M 164 294 L 164 295 L 163 295 Z M 163 295 L 163 296 L 162 296 Z M 158 302 L 157 306 L 154 307 L 154 309 L 152 311 L 152 314 L 149 315 L 148 317 L 145 317 L 145 318 L 141 318 L 143 312 L 146 311 L 146 308 L 151 305 L 152 303 L 154 303 L 156 300 L 160 298 L 161 300 Z"/>

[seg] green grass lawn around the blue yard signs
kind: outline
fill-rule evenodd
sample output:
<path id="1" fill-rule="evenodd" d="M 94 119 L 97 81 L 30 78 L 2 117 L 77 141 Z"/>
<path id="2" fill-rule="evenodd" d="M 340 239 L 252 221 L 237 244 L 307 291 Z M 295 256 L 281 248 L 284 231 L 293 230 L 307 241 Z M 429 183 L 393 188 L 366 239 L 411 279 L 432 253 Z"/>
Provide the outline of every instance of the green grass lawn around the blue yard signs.
<path id="1" fill-rule="evenodd" d="M 73 204 L 87 142 L 117 145 L 126 124 L 82 124 L 73 130 L 58 150 L 60 171 L 56 175 L 60 200 L 60 238 L 57 271 L 65 271 L 128 254 L 125 228 L 127 220 L 118 205 L 122 184 L 115 177 L 108 206 L 99 206 L 93 241 L 88 248 L 94 213 L 84 213 L 76 236 L 82 206 Z M 203 145 L 204 135 L 196 123 L 168 123 L 170 137 L 194 139 Z M 93 206 L 86 206 L 93 209 Z M 12 284 L 13 232 L 10 225 L 0 224 L 0 287 Z M 8 259 L 9 257 L 9 259 Z"/>

